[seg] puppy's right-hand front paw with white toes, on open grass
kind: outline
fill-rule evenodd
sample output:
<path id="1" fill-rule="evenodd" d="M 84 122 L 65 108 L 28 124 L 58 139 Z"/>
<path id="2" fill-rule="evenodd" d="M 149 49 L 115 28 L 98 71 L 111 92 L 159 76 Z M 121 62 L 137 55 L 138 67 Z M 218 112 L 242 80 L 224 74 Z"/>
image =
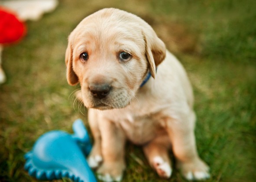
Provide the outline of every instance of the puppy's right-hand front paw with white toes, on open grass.
<path id="1" fill-rule="evenodd" d="M 194 160 L 194 162 L 178 162 L 178 167 L 187 180 L 210 178 L 209 167 L 199 158 Z"/>

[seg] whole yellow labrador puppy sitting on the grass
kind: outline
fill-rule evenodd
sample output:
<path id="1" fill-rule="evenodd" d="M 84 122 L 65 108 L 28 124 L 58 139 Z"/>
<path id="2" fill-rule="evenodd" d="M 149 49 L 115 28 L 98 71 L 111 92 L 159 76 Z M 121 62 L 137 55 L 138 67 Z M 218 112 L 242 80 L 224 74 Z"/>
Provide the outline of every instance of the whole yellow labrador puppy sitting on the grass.
<path id="1" fill-rule="evenodd" d="M 210 176 L 197 154 L 187 74 L 148 23 L 114 8 L 93 13 L 70 34 L 66 66 L 68 83 L 80 83 L 77 95 L 89 108 L 88 161 L 99 179 L 122 179 L 126 140 L 143 146 L 163 178 L 172 172 L 170 149 L 187 179 Z"/>

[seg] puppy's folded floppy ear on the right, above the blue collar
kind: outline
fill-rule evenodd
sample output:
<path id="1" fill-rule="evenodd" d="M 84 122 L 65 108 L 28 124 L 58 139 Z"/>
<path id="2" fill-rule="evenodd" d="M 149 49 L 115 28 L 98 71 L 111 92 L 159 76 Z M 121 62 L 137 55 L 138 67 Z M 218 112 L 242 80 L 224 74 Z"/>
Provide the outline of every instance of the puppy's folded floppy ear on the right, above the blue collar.
<path id="1" fill-rule="evenodd" d="M 149 25 L 148 25 L 149 26 Z M 166 55 L 165 44 L 158 38 L 151 26 L 144 29 L 144 41 L 146 45 L 146 56 L 149 62 L 149 70 L 155 77 L 156 67 L 164 60 Z"/>

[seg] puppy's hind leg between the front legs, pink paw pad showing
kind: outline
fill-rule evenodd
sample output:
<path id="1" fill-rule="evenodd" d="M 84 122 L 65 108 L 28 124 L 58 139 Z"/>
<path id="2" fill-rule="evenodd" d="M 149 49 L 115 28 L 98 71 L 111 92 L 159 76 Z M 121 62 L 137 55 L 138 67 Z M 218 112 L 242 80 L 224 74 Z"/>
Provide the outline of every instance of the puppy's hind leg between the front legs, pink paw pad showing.
<path id="1" fill-rule="evenodd" d="M 166 179 L 170 178 L 172 173 L 171 161 L 168 156 L 169 145 L 168 136 L 161 136 L 161 140 L 157 138 L 143 147 L 151 167 L 160 177 Z"/>

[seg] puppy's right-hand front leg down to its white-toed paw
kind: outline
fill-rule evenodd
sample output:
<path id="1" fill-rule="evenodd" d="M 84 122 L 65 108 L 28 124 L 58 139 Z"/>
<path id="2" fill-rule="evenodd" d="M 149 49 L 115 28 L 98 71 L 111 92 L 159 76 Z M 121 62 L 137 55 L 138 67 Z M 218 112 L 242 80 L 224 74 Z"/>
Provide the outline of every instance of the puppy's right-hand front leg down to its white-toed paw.
<path id="1" fill-rule="evenodd" d="M 209 167 L 197 154 L 194 136 L 195 114 L 182 114 L 179 119 L 167 119 L 167 132 L 171 138 L 177 167 L 188 180 L 202 180 L 210 177 Z"/>

